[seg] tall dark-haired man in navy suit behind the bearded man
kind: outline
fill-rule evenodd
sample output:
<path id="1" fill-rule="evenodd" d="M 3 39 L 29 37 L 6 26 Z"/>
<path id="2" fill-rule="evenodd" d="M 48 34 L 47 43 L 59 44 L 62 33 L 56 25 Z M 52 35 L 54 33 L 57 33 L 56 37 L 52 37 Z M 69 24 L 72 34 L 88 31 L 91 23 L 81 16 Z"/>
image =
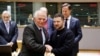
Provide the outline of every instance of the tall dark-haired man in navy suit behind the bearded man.
<path id="1" fill-rule="evenodd" d="M 82 30 L 81 30 L 79 19 L 71 16 L 71 11 L 72 11 L 72 8 L 70 4 L 64 3 L 62 5 L 62 14 L 66 22 L 65 26 L 67 29 L 72 30 L 72 32 L 75 35 L 72 56 L 77 56 L 77 53 L 79 51 L 79 41 L 82 38 Z"/>

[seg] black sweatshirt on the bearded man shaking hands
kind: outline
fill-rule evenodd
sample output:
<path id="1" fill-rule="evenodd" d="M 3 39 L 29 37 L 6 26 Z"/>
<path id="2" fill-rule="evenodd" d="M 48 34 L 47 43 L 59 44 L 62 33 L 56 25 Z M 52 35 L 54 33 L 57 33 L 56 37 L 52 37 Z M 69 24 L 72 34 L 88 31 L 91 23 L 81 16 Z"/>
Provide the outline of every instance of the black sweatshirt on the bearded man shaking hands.
<path id="1" fill-rule="evenodd" d="M 50 37 L 49 44 L 53 47 L 55 56 L 70 56 L 74 43 L 72 31 L 64 28 L 61 31 L 54 31 Z"/>

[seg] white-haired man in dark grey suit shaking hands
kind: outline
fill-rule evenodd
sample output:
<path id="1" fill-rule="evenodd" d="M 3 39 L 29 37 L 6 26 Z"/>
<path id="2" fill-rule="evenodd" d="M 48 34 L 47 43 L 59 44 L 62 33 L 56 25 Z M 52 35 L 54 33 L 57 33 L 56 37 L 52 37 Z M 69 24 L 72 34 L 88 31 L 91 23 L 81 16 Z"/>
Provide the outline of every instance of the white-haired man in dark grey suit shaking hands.
<path id="1" fill-rule="evenodd" d="M 26 26 L 23 32 L 22 49 L 19 56 L 44 56 L 48 51 L 46 30 L 43 28 L 46 14 L 40 10 L 34 13 L 33 23 Z M 49 47 L 51 49 L 51 47 Z"/>

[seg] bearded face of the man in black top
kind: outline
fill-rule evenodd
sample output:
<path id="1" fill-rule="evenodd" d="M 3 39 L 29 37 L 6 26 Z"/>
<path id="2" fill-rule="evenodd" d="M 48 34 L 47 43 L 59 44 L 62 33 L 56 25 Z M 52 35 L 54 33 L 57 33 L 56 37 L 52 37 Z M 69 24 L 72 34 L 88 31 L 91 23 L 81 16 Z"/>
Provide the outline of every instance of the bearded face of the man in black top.
<path id="1" fill-rule="evenodd" d="M 56 30 L 60 30 L 63 27 L 64 21 L 61 19 L 61 17 L 56 17 L 53 19 L 53 24 Z"/>

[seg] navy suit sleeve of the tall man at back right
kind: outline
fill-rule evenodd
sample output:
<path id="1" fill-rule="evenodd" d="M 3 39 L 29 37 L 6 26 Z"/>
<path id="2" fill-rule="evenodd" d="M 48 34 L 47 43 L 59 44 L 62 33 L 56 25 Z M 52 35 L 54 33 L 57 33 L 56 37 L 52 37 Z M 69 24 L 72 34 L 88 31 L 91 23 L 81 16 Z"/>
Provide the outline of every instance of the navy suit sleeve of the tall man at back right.
<path id="1" fill-rule="evenodd" d="M 75 40 L 74 43 L 78 43 L 81 38 L 82 38 L 82 30 L 81 30 L 81 26 L 80 26 L 80 22 L 79 20 L 76 21 L 76 36 L 75 36 Z"/>

